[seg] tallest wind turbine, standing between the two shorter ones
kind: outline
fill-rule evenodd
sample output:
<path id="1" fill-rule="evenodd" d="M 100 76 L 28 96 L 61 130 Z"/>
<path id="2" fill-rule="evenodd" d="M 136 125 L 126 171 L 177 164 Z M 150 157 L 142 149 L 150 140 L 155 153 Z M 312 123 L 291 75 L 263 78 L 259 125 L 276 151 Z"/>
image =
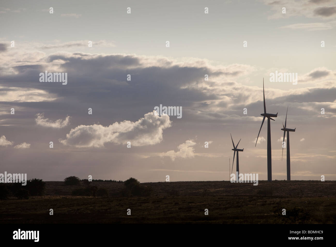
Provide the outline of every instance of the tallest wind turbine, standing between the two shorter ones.
<path id="1" fill-rule="evenodd" d="M 265 121 L 265 118 L 267 118 L 267 180 L 272 181 L 272 151 L 271 151 L 271 123 L 270 123 L 270 119 L 275 121 L 274 119 L 272 119 L 272 117 L 274 117 L 274 118 L 278 117 L 278 113 L 277 114 L 266 113 L 264 79 L 262 79 L 262 87 L 263 87 L 263 91 L 264 91 L 264 113 L 260 114 L 260 115 L 263 116 L 264 118 L 262 119 L 260 130 L 261 130 L 262 125 Z M 260 134 L 260 130 L 259 130 L 259 133 L 258 133 L 258 137 L 259 137 L 259 134 Z M 258 141 L 258 137 L 257 137 L 257 141 Z M 255 147 L 257 146 L 257 141 L 255 142 Z"/>

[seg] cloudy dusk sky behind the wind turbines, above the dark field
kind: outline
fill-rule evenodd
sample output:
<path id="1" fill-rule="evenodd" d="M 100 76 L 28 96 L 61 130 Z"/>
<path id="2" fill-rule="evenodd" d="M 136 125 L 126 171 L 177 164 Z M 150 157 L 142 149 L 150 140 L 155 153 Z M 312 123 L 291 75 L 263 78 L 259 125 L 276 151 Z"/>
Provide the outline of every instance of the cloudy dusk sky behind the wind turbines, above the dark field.
<path id="1" fill-rule="evenodd" d="M 264 80 L 272 179 L 287 107 L 291 179 L 336 179 L 335 1 L 1 1 L 0 21 L 0 173 L 229 180 L 232 134 L 240 172 L 266 180 Z"/>

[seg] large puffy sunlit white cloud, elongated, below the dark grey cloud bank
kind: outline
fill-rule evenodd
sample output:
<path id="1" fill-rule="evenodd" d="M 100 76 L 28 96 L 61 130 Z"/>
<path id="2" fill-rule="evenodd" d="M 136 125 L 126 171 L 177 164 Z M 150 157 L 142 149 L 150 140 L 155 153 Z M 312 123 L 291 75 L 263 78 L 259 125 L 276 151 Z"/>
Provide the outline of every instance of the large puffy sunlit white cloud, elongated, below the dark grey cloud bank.
<path id="1" fill-rule="evenodd" d="M 126 144 L 128 141 L 131 146 L 154 145 L 162 141 L 163 130 L 170 126 L 168 115 L 156 116 L 153 111 L 136 122 L 125 120 L 108 127 L 100 124 L 79 125 L 70 130 L 66 139 L 59 141 L 78 148 L 103 147 L 107 142 Z"/>

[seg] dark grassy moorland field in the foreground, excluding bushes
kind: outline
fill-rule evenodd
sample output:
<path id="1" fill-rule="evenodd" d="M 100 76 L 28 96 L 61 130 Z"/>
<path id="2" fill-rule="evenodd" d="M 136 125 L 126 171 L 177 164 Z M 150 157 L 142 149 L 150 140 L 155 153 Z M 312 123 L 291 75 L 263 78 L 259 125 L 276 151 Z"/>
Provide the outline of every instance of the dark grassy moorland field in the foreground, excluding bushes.
<path id="1" fill-rule="evenodd" d="M 336 181 L 141 183 L 149 197 L 121 197 L 123 183 L 91 183 L 109 197 L 71 196 L 81 186 L 49 181 L 45 196 L 1 201 L 0 223 L 336 223 Z"/>

